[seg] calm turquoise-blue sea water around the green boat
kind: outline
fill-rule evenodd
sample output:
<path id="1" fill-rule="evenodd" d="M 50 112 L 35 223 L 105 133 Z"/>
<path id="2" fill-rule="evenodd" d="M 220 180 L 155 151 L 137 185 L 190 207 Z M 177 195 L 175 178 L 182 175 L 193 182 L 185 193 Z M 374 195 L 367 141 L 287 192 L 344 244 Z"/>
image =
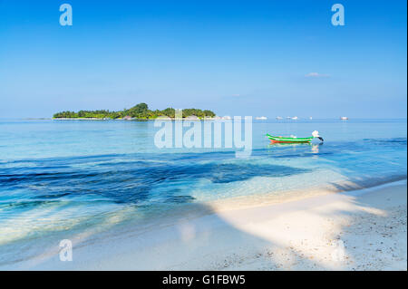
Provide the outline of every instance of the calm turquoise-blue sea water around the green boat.
<path id="1" fill-rule="evenodd" d="M 231 149 L 157 149 L 157 130 L 153 121 L 0 120 L 0 252 L 191 203 L 407 173 L 406 120 L 255 121 L 248 159 Z M 265 138 L 313 130 L 323 145 Z"/>

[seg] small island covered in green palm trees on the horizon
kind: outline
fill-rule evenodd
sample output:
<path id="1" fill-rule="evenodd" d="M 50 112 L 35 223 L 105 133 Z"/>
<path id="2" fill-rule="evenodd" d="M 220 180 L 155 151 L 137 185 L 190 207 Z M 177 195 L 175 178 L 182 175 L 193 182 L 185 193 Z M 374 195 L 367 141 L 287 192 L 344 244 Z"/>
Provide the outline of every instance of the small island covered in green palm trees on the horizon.
<path id="1" fill-rule="evenodd" d="M 176 110 L 167 108 L 163 111 L 149 110 L 146 103 L 139 103 L 129 110 L 122 111 L 61 111 L 53 114 L 53 119 L 89 119 L 89 120 L 154 120 L 159 117 L 174 119 Z M 186 109 L 182 111 L 183 118 L 214 118 L 216 114 L 209 110 Z"/>

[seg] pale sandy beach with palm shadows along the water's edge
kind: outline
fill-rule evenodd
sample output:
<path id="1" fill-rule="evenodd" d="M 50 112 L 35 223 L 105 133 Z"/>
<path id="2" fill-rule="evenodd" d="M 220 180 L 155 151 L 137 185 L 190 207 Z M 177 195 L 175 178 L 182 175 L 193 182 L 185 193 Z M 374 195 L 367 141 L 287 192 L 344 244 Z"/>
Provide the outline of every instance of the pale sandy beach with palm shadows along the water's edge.
<path id="1" fill-rule="evenodd" d="M 208 215 L 92 242 L 73 236 L 72 262 L 54 246 L 0 269 L 406 270 L 406 194 L 404 180 L 262 207 L 198 207 Z"/>

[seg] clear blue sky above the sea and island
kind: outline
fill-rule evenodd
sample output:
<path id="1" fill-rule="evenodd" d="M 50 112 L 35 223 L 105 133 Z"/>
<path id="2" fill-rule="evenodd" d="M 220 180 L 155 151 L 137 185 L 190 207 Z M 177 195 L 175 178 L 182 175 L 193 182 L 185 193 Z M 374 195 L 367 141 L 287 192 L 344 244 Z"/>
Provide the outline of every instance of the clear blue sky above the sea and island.
<path id="1" fill-rule="evenodd" d="M 61 26 L 59 6 L 73 6 Z M 345 6 L 345 26 L 331 6 Z M 0 117 L 406 118 L 405 1 L 0 0 Z"/>

